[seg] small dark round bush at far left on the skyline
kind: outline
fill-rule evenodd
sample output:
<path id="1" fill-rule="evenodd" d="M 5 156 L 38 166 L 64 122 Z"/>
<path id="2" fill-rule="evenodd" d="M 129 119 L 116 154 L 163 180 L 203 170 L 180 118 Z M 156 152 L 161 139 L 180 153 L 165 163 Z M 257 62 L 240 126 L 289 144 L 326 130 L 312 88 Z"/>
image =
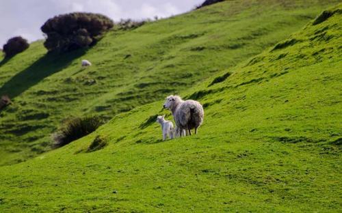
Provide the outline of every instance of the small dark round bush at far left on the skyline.
<path id="1" fill-rule="evenodd" d="M 5 53 L 5 57 L 13 57 L 16 54 L 25 51 L 27 48 L 29 48 L 27 40 L 21 36 L 17 36 L 11 38 L 3 45 L 3 53 Z"/>

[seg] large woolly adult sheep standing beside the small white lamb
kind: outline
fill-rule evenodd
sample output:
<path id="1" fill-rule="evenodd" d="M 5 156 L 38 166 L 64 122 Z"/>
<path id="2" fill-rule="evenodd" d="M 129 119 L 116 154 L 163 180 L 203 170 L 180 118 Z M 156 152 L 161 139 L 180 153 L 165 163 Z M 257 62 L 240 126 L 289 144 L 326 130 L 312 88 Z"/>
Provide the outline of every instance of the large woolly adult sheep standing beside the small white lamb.
<path id="1" fill-rule="evenodd" d="M 195 129 L 197 134 L 198 127 L 203 122 L 205 112 L 200 102 L 196 100 L 182 100 L 179 96 L 168 96 L 163 105 L 164 108 L 170 109 L 174 117 L 174 122 L 179 128 L 179 135 L 182 137 L 183 130 L 188 130 L 189 135 L 192 134 L 192 129 Z"/>

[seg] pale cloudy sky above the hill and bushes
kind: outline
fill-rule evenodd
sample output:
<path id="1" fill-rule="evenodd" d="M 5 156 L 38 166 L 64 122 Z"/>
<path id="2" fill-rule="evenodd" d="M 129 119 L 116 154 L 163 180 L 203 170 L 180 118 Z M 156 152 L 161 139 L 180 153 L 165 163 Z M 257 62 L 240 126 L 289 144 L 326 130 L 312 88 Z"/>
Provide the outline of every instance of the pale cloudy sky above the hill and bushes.
<path id="1" fill-rule="evenodd" d="M 204 0 L 0 0 L 0 48 L 22 35 L 29 42 L 42 37 L 40 27 L 58 14 L 97 12 L 120 18 L 168 17 L 192 10 Z"/>

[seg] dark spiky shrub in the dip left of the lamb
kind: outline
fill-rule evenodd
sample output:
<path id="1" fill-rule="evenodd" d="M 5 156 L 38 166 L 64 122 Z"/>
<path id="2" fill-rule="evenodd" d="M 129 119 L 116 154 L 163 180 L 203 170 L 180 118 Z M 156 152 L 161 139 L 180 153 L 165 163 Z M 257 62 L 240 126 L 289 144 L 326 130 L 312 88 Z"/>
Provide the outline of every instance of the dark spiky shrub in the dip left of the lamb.
<path id="1" fill-rule="evenodd" d="M 81 137 L 94 132 L 103 124 L 103 120 L 99 117 L 74 117 L 66 120 L 64 124 L 53 134 L 55 147 L 62 147 Z"/>

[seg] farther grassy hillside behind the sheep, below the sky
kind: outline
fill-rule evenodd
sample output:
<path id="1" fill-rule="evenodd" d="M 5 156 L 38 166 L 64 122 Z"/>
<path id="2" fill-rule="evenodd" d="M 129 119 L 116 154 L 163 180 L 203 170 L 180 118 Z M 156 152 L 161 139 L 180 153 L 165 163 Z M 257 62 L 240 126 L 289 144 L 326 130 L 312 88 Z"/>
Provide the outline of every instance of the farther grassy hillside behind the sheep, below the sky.
<path id="1" fill-rule="evenodd" d="M 0 94 L 14 98 L 0 114 L 0 165 L 49 150 L 49 134 L 65 117 L 111 118 L 179 93 L 287 38 L 335 2 L 226 1 L 111 31 L 86 53 L 61 57 L 31 44 L 0 66 Z M 82 58 L 94 66 L 80 68 Z"/>

